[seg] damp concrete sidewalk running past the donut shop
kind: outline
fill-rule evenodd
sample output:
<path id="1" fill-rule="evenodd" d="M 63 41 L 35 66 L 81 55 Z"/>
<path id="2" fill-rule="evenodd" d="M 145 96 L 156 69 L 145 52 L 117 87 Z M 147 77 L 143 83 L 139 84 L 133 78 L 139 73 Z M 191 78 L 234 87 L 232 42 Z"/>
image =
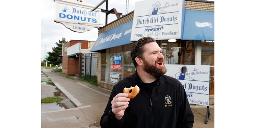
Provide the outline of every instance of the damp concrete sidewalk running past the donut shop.
<path id="1" fill-rule="evenodd" d="M 77 108 L 42 112 L 42 128 L 97 128 L 107 105 L 110 90 L 42 68 L 42 71 L 71 100 Z M 43 79 L 42 79 L 43 80 Z M 193 128 L 214 128 L 214 106 L 210 106 L 210 119 L 204 124 L 206 106 L 190 105 L 194 113 Z"/>

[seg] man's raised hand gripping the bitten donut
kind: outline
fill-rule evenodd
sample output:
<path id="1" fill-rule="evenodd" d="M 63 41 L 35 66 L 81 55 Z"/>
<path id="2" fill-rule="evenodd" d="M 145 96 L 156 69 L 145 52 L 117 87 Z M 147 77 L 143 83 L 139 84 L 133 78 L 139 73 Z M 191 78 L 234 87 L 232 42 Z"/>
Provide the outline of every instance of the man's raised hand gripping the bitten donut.
<path id="1" fill-rule="evenodd" d="M 124 116 L 124 110 L 128 108 L 128 101 L 130 100 L 131 99 L 128 98 L 128 94 L 119 93 L 111 101 L 112 112 L 115 114 L 117 120 L 121 120 Z"/>

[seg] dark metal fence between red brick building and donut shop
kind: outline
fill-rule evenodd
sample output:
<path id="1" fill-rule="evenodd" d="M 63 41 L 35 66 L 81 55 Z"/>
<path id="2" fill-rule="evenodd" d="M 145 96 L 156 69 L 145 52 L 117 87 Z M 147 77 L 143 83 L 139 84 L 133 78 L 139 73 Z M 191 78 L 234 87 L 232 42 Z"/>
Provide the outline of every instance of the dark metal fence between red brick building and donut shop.
<path id="1" fill-rule="evenodd" d="M 79 77 L 97 82 L 98 53 L 87 53 L 84 54 L 80 59 Z"/>

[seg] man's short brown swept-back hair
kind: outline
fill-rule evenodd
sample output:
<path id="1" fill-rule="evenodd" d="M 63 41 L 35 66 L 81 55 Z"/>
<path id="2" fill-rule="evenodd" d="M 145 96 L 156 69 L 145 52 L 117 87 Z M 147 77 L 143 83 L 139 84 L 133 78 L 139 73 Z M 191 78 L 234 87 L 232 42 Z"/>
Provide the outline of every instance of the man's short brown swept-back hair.
<path id="1" fill-rule="evenodd" d="M 142 55 L 145 52 L 144 45 L 150 42 L 156 42 L 156 40 L 152 37 L 142 37 L 132 45 L 131 56 L 132 56 L 133 65 L 135 67 L 137 66 L 137 62 L 135 58 L 138 56 L 144 59 Z"/>

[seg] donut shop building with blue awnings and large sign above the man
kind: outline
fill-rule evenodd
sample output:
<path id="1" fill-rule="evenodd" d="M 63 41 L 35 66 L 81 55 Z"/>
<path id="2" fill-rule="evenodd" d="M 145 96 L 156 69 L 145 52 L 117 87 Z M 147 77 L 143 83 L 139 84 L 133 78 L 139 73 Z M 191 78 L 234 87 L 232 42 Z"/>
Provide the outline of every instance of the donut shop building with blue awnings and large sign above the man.
<path id="1" fill-rule="evenodd" d="M 140 1 L 134 11 L 100 28 L 90 51 L 98 52 L 99 86 L 112 90 L 135 73 L 130 51 L 145 36 L 163 49 L 164 64 L 210 65 L 209 90 L 214 95 L 213 1 Z"/>

